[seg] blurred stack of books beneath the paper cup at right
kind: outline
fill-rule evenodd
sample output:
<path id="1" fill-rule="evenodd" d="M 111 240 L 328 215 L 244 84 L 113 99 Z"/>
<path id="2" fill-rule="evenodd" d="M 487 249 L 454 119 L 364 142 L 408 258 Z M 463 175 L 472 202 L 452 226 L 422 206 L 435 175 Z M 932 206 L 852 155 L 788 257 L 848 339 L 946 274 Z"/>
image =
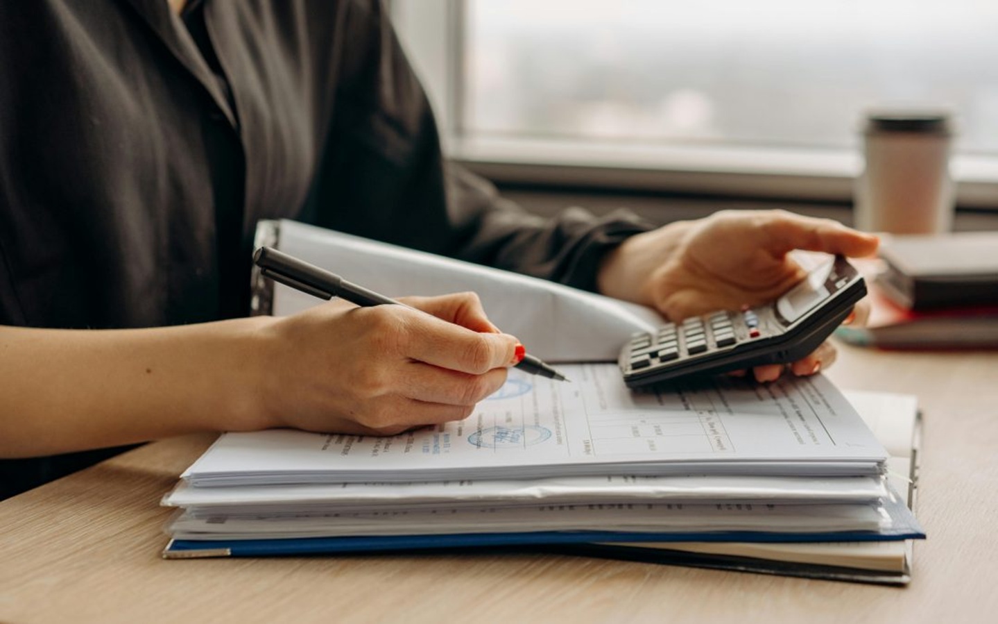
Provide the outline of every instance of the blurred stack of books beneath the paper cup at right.
<path id="1" fill-rule="evenodd" d="M 998 347 L 998 233 L 885 239 L 864 327 L 838 335 L 884 348 Z"/>

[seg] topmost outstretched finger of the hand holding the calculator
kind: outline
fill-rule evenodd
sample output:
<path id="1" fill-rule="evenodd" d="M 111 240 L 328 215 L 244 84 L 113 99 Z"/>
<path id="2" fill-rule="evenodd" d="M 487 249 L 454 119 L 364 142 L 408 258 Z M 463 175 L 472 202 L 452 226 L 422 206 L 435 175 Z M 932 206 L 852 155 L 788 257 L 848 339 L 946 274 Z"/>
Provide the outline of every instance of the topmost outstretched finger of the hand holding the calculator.
<path id="1" fill-rule="evenodd" d="M 771 211 L 762 223 L 765 246 L 776 255 L 791 250 L 841 254 L 849 257 L 870 256 L 879 239 L 871 234 L 846 228 L 830 219 L 815 219 L 785 211 Z"/>

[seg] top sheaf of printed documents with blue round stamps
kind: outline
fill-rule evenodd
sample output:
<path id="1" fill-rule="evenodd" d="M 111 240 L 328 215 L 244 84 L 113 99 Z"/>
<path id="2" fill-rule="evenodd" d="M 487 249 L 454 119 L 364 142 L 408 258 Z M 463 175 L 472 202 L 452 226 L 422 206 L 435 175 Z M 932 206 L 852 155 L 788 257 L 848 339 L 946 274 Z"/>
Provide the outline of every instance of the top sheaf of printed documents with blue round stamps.
<path id="1" fill-rule="evenodd" d="M 861 476 L 887 452 L 821 375 L 628 389 L 615 364 L 564 366 L 573 383 L 511 371 L 469 418 L 393 437 L 270 430 L 223 435 L 196 486 L 583 475 Z"/>

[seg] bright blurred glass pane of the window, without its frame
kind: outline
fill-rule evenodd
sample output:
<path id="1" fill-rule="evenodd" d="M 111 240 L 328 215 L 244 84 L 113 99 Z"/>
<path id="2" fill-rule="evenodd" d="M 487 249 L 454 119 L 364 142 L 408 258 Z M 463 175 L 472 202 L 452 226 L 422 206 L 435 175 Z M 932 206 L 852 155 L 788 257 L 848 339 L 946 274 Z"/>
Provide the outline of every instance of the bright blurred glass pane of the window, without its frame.
<path id="1" fill-rule="evenodd" d="M 470 0 L 468 132 L 847 148 L 871 107 L 998 153 L 993 0 Z"/>

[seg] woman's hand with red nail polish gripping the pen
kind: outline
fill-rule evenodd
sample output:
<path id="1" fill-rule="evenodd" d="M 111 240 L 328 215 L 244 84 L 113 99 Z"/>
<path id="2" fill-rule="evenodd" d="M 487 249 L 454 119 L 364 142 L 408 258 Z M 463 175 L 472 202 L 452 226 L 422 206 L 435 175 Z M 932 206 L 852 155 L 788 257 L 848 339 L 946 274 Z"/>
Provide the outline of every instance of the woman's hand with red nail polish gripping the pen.
<path id="1" fill-rule="evenodd" d="M 334 301 L 266 323 L 264 421 L 245 428 L 390 435 L 460 420 L 523 356 L 473 293 L 400 301 L 418 310 Z"/>

